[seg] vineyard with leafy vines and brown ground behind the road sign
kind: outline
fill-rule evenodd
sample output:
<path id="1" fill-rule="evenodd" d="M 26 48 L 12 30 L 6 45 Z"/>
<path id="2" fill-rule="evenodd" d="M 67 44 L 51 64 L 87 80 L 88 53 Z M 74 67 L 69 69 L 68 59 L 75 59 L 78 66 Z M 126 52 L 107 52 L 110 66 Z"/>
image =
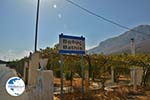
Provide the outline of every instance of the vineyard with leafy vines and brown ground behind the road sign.
<path id="1" fill-rule="evenodd" d="M 60 87 L 60 55 L 58 54 L 58 45 L 54 48 L 47 47 L 40 49 L 41 58 L 48 58 L 47 69 L 53 70 L 54 86 Z M 10 66 L 21 74 L 23 71 L 24 61 L 28 61 L 30 57 L 25 57 L 20 61 L 9 62 Z M 18 63 L 19 62 L 19 63 Z M 17 65 L 18 64 L 18 65 Z M 63 55 L 64 67 L 64 86 L 72 87 L 72 90 L 65 93 L 64 98 L 81 99 L 81 56 L 80 55 Z M 128 86 L 130 83 L 132 68 L 141 68 L 143 70 L 142 81 L 137 88 L 137 92 L 150 96 L 150 55 L 149 54 L 120 54 L 120 55 L 103 55 L 103 54 L 86 54 L 84 55 L 85 72 L 88 72 L 88 86 L 100 83 L 101 88 L 98 90 L 86 90 L 85 100 L 109 100 L 110 98 L 121 98 L 126 100 L 129 94 L 134 94 L 133 87 Z M 106 87 L 110 85 L 112 70 L 114 70 L 114 83 L 117 85 L 113 91 L 106 91 Z M 86 80 L 86 79 L 85 79 Z M 122 81 L 123 80 L 123 81 Z M 120 85 L 120 83 L 125 83 Z M 147 92 L 148 91 L 148 92 Z M 76 96 L 78 95 L 78 96 Z M 59 95 L 56 94 L 59 98 Z M 97 98 L 97 99 L 96 99 Z M 98 99 L 101 98 L 101 99 Z M 123 99 L 124 98 L 124 99 Z M 67 99 L 68 100 L 68 99 Z M 70 99 L 72 100 L 72 99 Z"/>

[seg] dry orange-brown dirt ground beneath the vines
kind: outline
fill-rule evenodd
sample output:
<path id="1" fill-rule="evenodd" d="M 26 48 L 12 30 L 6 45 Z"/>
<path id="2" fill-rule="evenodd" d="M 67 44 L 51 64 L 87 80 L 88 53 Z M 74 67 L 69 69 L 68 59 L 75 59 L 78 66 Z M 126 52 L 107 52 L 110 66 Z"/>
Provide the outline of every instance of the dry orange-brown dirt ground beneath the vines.
<path id="1" fill-rule="evenodd" d="M 126 81 L 129 78 L 121 77 L 119 80 Z M 81 83 L 81 78 L 74 78 L 72 84 L 77 90 L 74 93 L 64 94 L 64 100 L 82 100 Z M 54 84 L 60 86 L 60 79 L 54 78 Z M 70 81 L 64 80 L 64 86 L 71 86 Z M 133 91 L 133 87 L 127 85 L 117 87 L 114 91 L 93 90 L 85 92 L 85 98 L 87 98 L 85 100 L 150 100 L 150 88 L 138 87 L 137 91 Z M 60 100 L 59 95 L 56 95 L 54 100 Z"/>

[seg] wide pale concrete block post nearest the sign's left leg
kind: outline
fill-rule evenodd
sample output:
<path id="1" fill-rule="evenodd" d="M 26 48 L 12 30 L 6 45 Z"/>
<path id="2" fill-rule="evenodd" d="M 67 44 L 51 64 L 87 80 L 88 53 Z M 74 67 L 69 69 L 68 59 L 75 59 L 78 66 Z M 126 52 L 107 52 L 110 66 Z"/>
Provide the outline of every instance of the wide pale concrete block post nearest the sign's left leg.
<path id="1" fill-rule="evenodd" d="M 53 71 L 37 69 L 36 100 L 53 100 Z"/>

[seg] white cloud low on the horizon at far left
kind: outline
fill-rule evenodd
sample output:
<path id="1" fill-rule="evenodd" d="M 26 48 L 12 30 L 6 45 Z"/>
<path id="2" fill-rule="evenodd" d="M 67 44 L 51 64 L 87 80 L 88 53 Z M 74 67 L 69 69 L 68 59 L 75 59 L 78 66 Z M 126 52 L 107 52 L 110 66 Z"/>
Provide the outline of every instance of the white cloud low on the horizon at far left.
<path id="1" fill-rule="evenodd" d="M 0 59 L 5 60 L 5 61 L 17 60 L 17 59 L 21 59 L 25 56 L 29 56 L 30 52 L 31 51 L 29 51 L 29 50 L 24 50 L 21 52 L 16 52 L 14 50 L 8 50 L 8 51 L 0 52 Z"/>

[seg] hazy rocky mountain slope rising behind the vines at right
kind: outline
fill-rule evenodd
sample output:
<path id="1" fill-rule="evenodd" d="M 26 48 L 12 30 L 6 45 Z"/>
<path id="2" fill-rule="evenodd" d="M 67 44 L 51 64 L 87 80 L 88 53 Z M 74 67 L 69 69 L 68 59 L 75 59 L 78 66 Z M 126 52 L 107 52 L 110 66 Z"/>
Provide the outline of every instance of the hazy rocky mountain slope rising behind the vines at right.
<path id="1" fill-rule="evenodd" d="M 150 25 L 139 25 L 117 37 L 102 41 L 88 53 L 130 53 L 131 38 L 135 39 L 136 53 L 150 53 Z"/>

